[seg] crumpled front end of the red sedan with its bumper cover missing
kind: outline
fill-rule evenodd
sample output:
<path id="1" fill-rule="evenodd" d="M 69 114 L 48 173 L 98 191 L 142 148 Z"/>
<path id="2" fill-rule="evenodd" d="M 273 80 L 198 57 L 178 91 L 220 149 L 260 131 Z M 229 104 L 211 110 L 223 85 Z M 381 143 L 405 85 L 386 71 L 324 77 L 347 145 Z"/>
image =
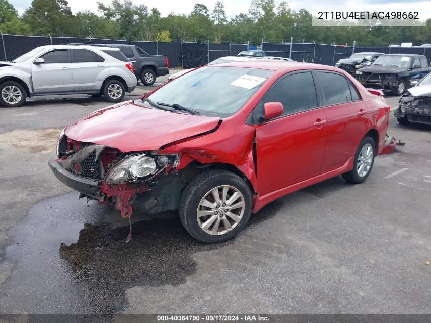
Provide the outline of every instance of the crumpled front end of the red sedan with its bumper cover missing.
<path id="1" fill-rule="evenodd" d="M 178 209 L 179 192 L 187 184 L 174 171 L 178 154 L 122 153 L 64 134 L 57 153 L 58 158 L 48 164 L 58 180 L 80 192 L 80 198 L 120 210 L 124 218 L 134 209 L 151 214 Z"/>

